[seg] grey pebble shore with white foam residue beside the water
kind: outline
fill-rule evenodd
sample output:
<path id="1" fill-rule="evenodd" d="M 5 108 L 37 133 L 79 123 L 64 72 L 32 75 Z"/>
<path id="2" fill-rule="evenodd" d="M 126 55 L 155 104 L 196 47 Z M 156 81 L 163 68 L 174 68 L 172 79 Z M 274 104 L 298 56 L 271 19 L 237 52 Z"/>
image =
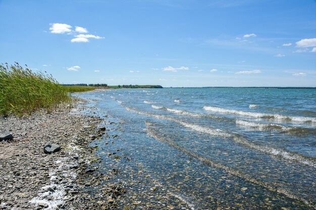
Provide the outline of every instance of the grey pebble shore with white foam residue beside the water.
<path id="1" fill-rule="evenodd" d="M 107 135 L 100 127 L 102 119 L 81 114 L 83 103 L 49 114 L 0 118 L 0 133 L 13 135 L 0 141 L 0 209 L 115 208 L 116 198 L 124 193 L 120 186 L 90 193 L 111 177 L 98 172 L 97 148 L 89 145 Z M 47 144 L 57 144 L 61 150 L 45 154 Z"/>

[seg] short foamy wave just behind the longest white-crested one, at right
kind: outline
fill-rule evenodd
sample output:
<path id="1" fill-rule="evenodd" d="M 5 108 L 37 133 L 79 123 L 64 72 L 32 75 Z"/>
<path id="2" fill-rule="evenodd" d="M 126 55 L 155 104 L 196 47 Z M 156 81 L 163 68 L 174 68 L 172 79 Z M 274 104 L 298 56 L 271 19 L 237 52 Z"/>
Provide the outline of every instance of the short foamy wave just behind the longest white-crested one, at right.
<path id="1" fill-rule="evenodd" d="M 292 127 L 292 126 L 285 126 L 285 125 L 274 124 L 274 123 L 266 124 L 266 123 L 236 119 L 236 124 L 241 127 L 256 128 L 259 130 L 278 129 L 284 132 L 293 132 L 294 134 L 316 134 L 316 129 L 305 128 L 305 127 Z"/>

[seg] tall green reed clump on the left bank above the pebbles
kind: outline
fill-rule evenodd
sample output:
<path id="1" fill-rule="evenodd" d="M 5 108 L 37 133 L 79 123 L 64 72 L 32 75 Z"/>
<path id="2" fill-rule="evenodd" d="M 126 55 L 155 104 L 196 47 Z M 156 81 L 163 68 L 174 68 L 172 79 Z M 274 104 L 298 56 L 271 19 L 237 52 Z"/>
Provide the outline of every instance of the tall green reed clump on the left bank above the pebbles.
<path id="1" fill-rule="evenodd" d="M 41 108 L 51 112 L 70 99 L 51 75 L 33 73 L 17 62 L 11 66 L 0 64 L 0 114 L 23 116 Z"/>

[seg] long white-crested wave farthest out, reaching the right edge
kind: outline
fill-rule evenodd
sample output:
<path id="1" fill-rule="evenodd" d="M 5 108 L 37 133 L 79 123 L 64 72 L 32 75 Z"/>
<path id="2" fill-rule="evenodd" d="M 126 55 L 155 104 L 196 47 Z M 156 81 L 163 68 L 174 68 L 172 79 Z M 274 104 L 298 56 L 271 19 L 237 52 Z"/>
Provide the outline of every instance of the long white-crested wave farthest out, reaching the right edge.
<path id="1" fill-rule="evenodd" d="M 243 116 L 255 117 L 255 118 L 268 118 L 268 119 L 281 119 L 281 120 L 291 120 L 297 122 L 313 122 L 316 123 L 316 118 L 313 117 L 298 117 L 298 116 L 285 116 L 281 114 L 266 114 L 259 112 L 245 112 L 234 109 L 224 109 L 213 106 L 204 106 L 204 110 L 212 111 L 212 112 L 220 112 L 220 113 L 229 113 L 229 114 L 238 114 Z"/>

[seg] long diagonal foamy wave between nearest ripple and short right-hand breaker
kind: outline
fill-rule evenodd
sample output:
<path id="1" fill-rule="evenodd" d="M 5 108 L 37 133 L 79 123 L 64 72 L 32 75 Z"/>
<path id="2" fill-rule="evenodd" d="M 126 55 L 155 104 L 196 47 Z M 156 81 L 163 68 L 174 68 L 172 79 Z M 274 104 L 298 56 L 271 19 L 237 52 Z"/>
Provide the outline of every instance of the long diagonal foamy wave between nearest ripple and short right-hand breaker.
<path id="1" fill-rule="evenodd" d="M 226 132 L 225 130 L 219 129 L 219 128 L 204 127 L 204 126 L 197 125 L 197 124 L 191 124 L 191 123 L 187 123 L 187 122 L 184 122 L 184 121 L 181 121 L 181 120 L 178 120 L 178 119 L 175 119 L 173 117 L 166 116 L 166 115 L 151 114 L 151 113 L 139 111 L 139 110 L 136 110 L 136 109 L 133 109 L 130 107 L 125 107 L 125 108 L 128 111 L 136 112 L 138 114 L 154 117 L 157 119 L 165 119 L 165 120 L 174 121 L 178 124 L 183 125 L 184 127 L 190 128 L 191 130 L 194 130 L 194 131 L 197 131 L 200 133 L 204 133 L 204 134 L 208 134 L 208 135 L 212 135 L 212 136 L 224 137 L 224 138 L 231 137 L 232 141 L 234 141 L 237 144 L 243 145 L 244 147 L 247 147 L 247 148 L 262 152 L 262 153 L 266 153 L 266 154 L 269 154 L 269 155 L 272 155 L 275 157 L 279 157 L 279 158 L 282 158 L 282 159 L 285 159 L 288 161 L 296 161 L 296 162 L 299 162 L 301 164 L 316 168 L 316 158 L 307 157 L 307 156 L 304 156 L 302 154 L 295 153 L 295 152 L 289 152 L 289 151 L 286 151 L 284 149 L 257 145 L 255 143 L 248 141 L 247 139 L 245 139 L 244 137 L 242 137 L 238 133 L 229 133 L 229 132 Z"/>

